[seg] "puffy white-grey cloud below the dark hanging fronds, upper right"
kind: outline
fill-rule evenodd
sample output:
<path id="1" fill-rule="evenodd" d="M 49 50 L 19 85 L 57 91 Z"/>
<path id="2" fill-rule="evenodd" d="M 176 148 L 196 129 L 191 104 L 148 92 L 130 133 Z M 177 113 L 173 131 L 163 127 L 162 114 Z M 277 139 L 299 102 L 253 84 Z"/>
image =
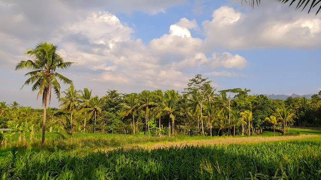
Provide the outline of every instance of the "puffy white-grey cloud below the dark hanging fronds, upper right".
<path id="1" fill-rule="evenodd" d="M 264 7 L 264 5 L 262 5 Z M 203 22 L 206 49 L 316 48 L 321 44 L 321 19 L 290 11 L 286 6 L 256 9 L 247 14 L 220 7 Z"/>

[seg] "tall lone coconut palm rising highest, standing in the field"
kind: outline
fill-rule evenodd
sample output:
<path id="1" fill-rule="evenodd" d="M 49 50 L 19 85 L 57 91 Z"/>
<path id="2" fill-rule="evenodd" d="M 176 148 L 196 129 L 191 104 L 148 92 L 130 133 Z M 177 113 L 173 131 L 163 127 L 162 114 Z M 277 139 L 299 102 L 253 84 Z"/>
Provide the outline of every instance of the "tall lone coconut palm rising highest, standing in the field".
<path id="1" fill-rule="evenodd" d="M 15 70 L 30 69 L 33 70 L 27 73 L 25 76 L 31 76 L 26 80 L 24 85 L 34 83 L 31 87 L 31 91 L 38 91 L 37 98 L 42 95 L 44 107 L 44 121 L 43 121 L 43 134 L 41 147 L 45 146 L 45 130 L 46 130 L 46 109 L 47 101 L 51 100 L 51 91 L 53 89 L 54 94 L 60 98 L 60 84 L 58 80 L 64 82 L 64 84 L 72 84 L 72 81 L 65 76 L 56 72 L 57 69 L 68 69 L 72 62 L 64 62 L 63 58 L 57 53 L 58 46 L 54 46 L 52 43 L 41 42 L 38 43 L 34 49 L 27 49 L 26 54 L 33 57 L 33 60 L 20 61 Z M 24 85 L 21 87 L 23 88 Z"/>

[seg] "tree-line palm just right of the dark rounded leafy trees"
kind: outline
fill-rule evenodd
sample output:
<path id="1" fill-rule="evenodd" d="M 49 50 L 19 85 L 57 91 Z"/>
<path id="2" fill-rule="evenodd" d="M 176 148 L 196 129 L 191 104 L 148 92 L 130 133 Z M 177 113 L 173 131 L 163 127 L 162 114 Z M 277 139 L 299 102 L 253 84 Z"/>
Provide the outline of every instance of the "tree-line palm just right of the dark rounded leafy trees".
<path id="1" fill-rule="evenodd" d="M 124 112 L 123 119 L 128 115 L 132 115 L 133 118 L 133 133 L 135 134 L 135 114 L 136 110 L 139 106 L 137 95 L 136 94 L 129 94 L 125 96 L 125 103 L 122 103 L 122 111 Z"/>

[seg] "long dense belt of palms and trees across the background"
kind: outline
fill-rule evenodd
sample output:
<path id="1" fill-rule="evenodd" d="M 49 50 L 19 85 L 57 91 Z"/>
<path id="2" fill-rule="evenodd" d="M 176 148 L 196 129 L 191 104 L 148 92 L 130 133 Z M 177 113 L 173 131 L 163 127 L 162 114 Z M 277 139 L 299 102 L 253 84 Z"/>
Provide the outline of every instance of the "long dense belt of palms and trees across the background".
<path id="1" fill-rule="evenodd" d="M 216 92 L 211 80 L 196 75 L 185 92 L 173 89 L 122 94 L 108 89 L 102 98 L 88 88 L 67 88 L 61 108 L 46 108 L 49 131 L 189 136 L 252 136 L 264 130 L 286 134 L 291 126 L 321 126 L 321 98 L 271 100 L 250 89 Z M 41 109 L 0 102 L 0 128 L 16 133 L 41 130 Z M 32 128 L 30 128 L 32 126 Z"/>

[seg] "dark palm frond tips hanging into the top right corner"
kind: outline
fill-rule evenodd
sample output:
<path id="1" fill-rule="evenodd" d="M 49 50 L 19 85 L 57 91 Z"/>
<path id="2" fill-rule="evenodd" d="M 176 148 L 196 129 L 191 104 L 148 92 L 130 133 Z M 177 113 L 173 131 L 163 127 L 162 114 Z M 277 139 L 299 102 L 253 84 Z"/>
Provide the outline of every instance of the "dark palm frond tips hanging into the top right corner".
<path id="1" fill-rule="evenodd" d="M 242 2 L 245 1 L 246 3 L 248 2 L 247 0 L 242 0 Z M 302 8 L 302 10 L 304 10 L 306 7 L 309 8 L 309 11 L 308 13 L 310 13 L 310 11 L 312 10 L 312 8 L 317 8 L 316 5 L 318 5 L 321 1 L 310 1 L 310 0 L 306 0 L 306 1 L 295 1 L 295 0 L 292 0 L 292 1 L 289 1 L 289 0 L 276 0 L 277 2 L 280 2 L 282 4 L 289 4 L 289 6 L 292 6 L 294 4 L 296 4 L 296 7 L 295 9 L 300 9 Z M 249 3 L 250 5 L 254 8 L 255 4 L 258 6 L 260 4 L 260 0 L 250 0 Z M 294 5 L 295 6 L 295 5 Z M 319 9 L 316 11 L 315 15 L 317 15 L 317 13 L 320 11 L 321 9 L 321 5 L 319 6 Z"/>

